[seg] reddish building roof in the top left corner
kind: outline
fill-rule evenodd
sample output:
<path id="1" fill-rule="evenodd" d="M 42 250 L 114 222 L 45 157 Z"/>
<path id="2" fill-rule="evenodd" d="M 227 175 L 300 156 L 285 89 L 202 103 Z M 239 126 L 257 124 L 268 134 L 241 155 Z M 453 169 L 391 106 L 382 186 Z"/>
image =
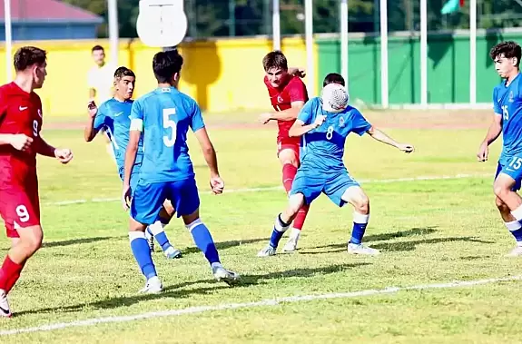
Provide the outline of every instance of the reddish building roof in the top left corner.
<path id="1" fill-rule="evenodd" d="M 0 0 L 0 22 L 4 23 L 4 0 Z M 98 15 L 58 0 L 11 0 L 13 22 L 103 23 Z"/>

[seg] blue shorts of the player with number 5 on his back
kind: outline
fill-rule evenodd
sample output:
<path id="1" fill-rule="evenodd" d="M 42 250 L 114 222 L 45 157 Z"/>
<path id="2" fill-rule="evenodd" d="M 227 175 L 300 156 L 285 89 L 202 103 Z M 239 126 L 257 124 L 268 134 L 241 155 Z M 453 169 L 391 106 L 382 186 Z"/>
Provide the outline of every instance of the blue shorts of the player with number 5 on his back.
<path id="1" fill-rule="evenodd" d="M 140 179 L 133 192 L 131 216 L 143 224 L 153 224 L 169 200 L 177 217 L 190 215 L 200 207 L 200 196 L 195 179 L 177 182 L 146 182 Z"/>

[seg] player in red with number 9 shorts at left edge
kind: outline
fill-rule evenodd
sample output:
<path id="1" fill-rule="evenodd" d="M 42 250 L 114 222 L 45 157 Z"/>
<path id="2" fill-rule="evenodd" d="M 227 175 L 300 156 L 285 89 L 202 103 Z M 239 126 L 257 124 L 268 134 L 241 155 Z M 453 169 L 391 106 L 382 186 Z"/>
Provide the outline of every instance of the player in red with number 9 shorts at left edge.
<path id="1" fill-rule="evenodd" d="M 15 53 L 15 81 L 0 86 L 0 215 L 12 239 L 0 270 L 0 316 L 11 317 L 7 294 L 25 261 L 42 245 L 36 154 L 67 163 L 68 149 L 54 148 L 40 136 L 42 102 L 35 89 L 44 84 L 46 53 L 25 46 Z"/>

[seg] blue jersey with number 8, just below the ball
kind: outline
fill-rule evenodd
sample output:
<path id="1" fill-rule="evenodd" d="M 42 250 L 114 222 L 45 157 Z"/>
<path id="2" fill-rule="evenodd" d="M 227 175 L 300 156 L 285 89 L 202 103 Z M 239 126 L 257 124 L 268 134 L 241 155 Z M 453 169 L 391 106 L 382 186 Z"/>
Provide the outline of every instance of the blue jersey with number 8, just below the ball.
<path id="1" fill-rule="evenodd" d="M 348 106 L 340 113 L 330 113 L 322 109 L 319 97 L 310 99 L 301 109 L 298 120 L 305 124 L 315 122 L 318 115 L 325 115 L 326 120 L 318 128 L 303 135 L 302 169 L 320 172 L 339 172 L 346 170 L 342 157 L 344 144 L 350 133 L 362 135 L 371 128 L 371 124 L 359 113 Z"/>

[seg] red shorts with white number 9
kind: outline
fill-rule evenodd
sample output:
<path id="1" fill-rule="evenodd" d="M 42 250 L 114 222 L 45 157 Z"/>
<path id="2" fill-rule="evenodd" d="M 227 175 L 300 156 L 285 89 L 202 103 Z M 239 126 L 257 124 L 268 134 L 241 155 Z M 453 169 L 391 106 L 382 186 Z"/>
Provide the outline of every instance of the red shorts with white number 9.
<path id="1" fill-rule="evenodd" d="M 19 238 L 17 230 L 40 225 L 40 200 L 37 183 L 0 188 L 0 216 L 8 238 Z"/>

